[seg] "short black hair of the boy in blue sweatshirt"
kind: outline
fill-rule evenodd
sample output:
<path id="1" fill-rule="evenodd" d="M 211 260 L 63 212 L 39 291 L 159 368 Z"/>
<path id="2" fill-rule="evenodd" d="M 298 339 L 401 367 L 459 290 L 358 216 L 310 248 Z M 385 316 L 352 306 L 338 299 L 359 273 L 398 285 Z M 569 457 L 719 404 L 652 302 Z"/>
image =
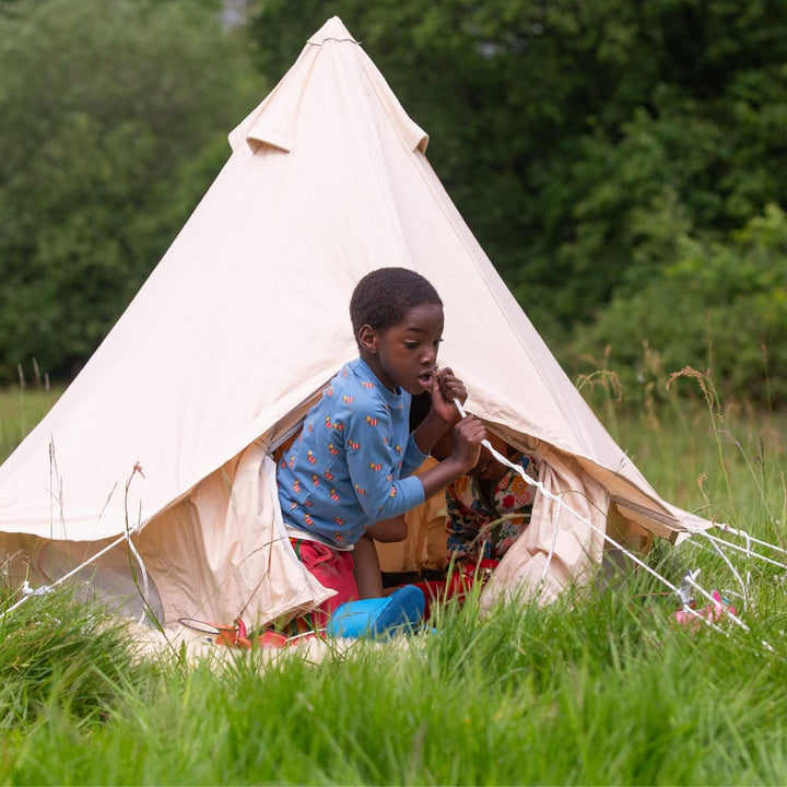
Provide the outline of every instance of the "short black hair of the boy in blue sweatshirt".
<path id="1" fill-rule="evenodd" d="M 408 268 L 378 268 L 367 273 L 350 298 L 353 334 L 365 325 L 385 330 L 401 322 L 408 309 L 421 304 L 442 306 L 437 291 L 420 273 Z"/>

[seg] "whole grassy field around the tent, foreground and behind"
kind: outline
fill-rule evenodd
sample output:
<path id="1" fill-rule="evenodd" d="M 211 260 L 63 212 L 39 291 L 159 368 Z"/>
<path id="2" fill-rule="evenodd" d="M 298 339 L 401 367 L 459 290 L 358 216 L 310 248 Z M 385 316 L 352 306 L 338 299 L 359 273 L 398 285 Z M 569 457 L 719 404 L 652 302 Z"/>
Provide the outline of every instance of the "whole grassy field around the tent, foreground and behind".
<path id="1" fill-rule="evenodd" d="M 26 428 L 46 404 L 28 393 Z M 5 396 L 3 435 L 20 418 Z M 599 411 L 666 497 L 783 538 L 784 414 L 702 398 Z M 22 431 L 9 426 L 5 453 Z M 648 562 L 674 583 L 702 567 L 706 586 L 737 589 L 700 544 L 660 543 Z M 265 668 L 259 651 L 212 668 L 140 660 L 117 621 L 67 591 L 32 599 L 0 623 L 0 780 L 786 784 L 787 580 L 754 562 L 742 575 L 750 631 L 676 626 L 673 599 L 642 573 L 482 620 L 471 600 L 432 633 Z"/>

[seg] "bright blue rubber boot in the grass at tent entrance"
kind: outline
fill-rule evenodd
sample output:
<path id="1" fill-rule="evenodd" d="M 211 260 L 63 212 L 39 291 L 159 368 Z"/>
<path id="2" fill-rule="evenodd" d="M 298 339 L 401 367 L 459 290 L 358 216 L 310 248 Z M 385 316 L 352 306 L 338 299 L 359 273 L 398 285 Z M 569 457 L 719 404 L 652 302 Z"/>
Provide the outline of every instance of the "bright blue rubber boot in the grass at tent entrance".
<path id="1" fill-rule="evenodd" d="M 390 596 L 348 601 L 333 610 L 326 633 L 331 637 L 386 638 L 418 627 L 426 599 L 423 590 L 404 585 Z"/>

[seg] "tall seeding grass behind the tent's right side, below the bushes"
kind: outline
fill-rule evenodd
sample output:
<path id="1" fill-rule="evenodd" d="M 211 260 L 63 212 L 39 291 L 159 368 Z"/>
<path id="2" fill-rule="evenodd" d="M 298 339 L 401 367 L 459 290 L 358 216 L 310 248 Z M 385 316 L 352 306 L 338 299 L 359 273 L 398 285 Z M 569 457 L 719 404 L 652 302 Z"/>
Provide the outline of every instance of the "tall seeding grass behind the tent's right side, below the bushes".
<path id="1" fill-rule="evenodd" d="M 787 412 L 723 401 L 708 372 L 668 375 L 647 348 L 645 359 L 658 381 L 629 399 L 612 372 L 578 380 L 612 436 L 666 500 L 779 540 L 776 525 L 784 529 L 787 517 Z"/>

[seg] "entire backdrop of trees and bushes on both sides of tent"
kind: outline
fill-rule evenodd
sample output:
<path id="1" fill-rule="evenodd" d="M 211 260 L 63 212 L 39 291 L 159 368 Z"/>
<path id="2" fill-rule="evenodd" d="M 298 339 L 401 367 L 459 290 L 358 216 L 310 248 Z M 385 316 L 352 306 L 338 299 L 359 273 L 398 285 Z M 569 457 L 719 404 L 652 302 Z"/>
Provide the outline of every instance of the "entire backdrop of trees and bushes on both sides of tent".
<path id="1" fill-rule="evenodd" d="M 787 5 L 248 0 L 232 28 L 227 8 L 0 2 L 0 380 L 79 368 L 339 14 L 569 374 L 607 353 L 636 398 L 656 353 L 787 398 Z"/>

